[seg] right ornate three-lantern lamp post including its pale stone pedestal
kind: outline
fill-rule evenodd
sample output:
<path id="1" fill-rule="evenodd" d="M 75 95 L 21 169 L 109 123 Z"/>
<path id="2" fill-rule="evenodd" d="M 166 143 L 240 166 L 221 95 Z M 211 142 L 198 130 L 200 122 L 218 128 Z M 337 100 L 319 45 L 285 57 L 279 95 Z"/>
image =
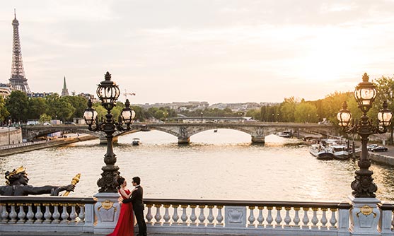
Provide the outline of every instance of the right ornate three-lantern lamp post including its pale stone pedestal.
<path id="1" fill-rule="evenodd" d="M 383 109 L 378 113 L 379 124 L 377 126 L 372 124 L 371 119 L 369 119 L 366 113 L 371 109 L 372 102 L 376 98 L 376 88 L 373 83 L 369 82 L 369 76 L 366 73 L 364 73 L 362 79 L 363 81 L 354 90 L 354 98 L 357 100 L 359 109 L 363 112 L 361 120 L 356 123 L 352 121 L 352 114 L 347 110 L 346 102 L 343 103 L 342 110 L 338 112 L 337 119 L 340 121 L 339 124 L 345 132 L 359 134 L 361 137 L 361 156 L 358 162 L 360 169 L 356 170 L 355 179 L 351 184 L 353 191 L 350 200 L 352 201 L 353 208 L 351 210 L 352 225 L 350 228 L 353 232 L 365 233 L 366 230 L 369 230 L 369 232 L 374 233 L 378 224 L 378 215 L 380 215 L 376 204 L 380 201 L 375 198 L 375 192 L 378 187 L 373 183 L 373 171 L 369 170 L 371 161 L 369 160 L 369 153 L 366 146 L 369 141 L 369 135 L 386 133 L 388 126 L 391 124 L 393 114 L 387 109 L 387 102 L 383 102 Z M 360 221 L 359 213 L 357 212 L 363 214 L 364 221 Z M 370 222 L 369 228 L 365 227 L 365 220 Z"/>

